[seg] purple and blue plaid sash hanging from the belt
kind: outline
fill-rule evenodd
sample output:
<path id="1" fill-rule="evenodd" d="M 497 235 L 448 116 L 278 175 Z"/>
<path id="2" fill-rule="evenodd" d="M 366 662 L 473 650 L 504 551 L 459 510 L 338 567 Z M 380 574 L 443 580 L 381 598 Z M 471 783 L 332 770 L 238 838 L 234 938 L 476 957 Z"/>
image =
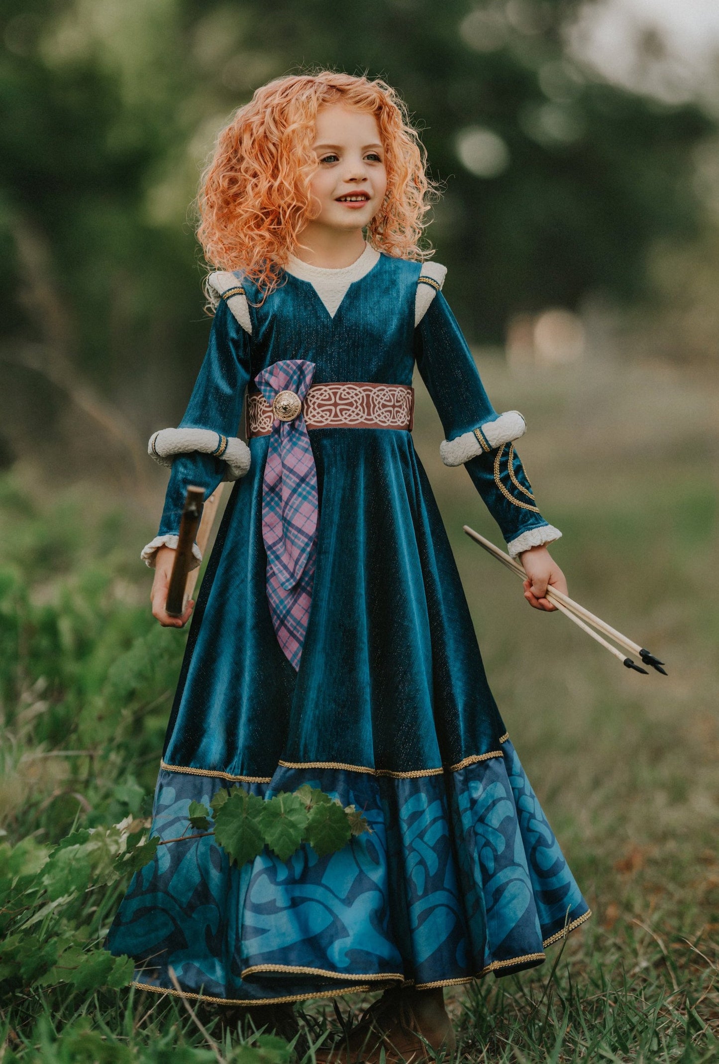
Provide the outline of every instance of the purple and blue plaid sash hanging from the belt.
<path id="1" fill-rule="evenodd" d="M 315 364 L 286 359 L 254 379 L 269 405 L 279 392 L 304 399 Z M 262 489 L 262 535 L 267 550 L 267 600 L 282 650 L 299 668 L 317 565 L 317 469 L 302 411 L 274 418 Z"/>

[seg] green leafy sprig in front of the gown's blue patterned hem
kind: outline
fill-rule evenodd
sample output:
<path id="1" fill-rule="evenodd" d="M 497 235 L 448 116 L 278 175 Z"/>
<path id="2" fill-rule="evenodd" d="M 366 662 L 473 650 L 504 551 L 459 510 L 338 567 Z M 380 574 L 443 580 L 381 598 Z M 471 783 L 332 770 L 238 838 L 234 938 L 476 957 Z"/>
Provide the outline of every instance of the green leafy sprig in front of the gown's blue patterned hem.
<path id="1" fill-rule="evenodd" d="M 214 831 L 208 830 L 211 810 Z M 288 861 L 303 843 L 318 857 L 325 857 L 340 850 L 353 835 L 372 830 L 354 805 L 342 807 L 338 798 L 306 783 L 267 800 L 241 786 L 222 788 L 213 797 L 210 809 L 190 802 L 187 819 L 189 827 L 199 832 L 197 837 L 214 835 L 236 865 L 254 861 L 265 846 L 281 861 Z M 177 841 L 168 838 L 158 845 Z M 152 857 L 148 852 L 147 860 Z"/>

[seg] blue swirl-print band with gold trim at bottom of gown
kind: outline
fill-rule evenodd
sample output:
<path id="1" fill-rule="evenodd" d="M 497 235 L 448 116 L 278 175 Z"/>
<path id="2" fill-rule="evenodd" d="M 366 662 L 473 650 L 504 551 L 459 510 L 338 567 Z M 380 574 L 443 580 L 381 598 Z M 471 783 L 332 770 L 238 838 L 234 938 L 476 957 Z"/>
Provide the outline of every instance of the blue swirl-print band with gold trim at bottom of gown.
<path id="1" fill-rule="evenodd" d="M 222 1001 L 294 1000 L 404 982 L 506 975 L 590 911 L 512 743 L 454 771 L 394 778 L 280 766 L 271 797 L 303 783 L 364 811 L 372 829 L 318 858 L 265 850 L 231 867 L 212 837 L 161 846 L 108 936 L 136 982 Z M 177 838 L 221 778 L 162 769 L 152 833 Z"/>

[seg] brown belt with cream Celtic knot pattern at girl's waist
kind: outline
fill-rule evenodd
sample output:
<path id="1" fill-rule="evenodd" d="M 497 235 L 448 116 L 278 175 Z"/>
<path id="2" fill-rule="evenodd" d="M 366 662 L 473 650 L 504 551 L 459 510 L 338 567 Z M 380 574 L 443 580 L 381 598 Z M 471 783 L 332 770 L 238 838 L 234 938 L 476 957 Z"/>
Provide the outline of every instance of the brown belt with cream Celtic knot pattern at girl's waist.
<path id="1" fill-rule="evenodd" d="M 245 435 L 268 436 L 275 417 L 291 420 L 299 413 L 295 393 L 282 392 L 283 404 L 270 406 L 261 392 L 249 392 Z M 291 402 L 291 397 L 297 403 Z M 290 401 L 287 401 L 287 400 Z M 404 384 L 373 384 L 369 381 L 332 381 L 313 384 L 301 404 L 307 429 L 404 429 L 412 432 L 415 389 Z"/>

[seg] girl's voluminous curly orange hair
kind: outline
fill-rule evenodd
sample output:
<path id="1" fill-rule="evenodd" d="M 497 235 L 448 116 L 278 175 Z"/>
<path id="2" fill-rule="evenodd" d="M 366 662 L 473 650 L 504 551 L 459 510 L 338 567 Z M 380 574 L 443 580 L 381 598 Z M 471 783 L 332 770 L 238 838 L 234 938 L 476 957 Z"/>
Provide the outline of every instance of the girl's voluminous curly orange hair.
<path id="1" fill-rule="evenodd" d="M 384 81 L 322 70 L 263 85 L 220 132 L 198 196 L 197 235 L 215 268 L 241 268 L 265 293 L 277 286 L 311 217 L 315 118 L 337 103 L 374 115 L 380 128 L 387 192 L 370 244 L 395 257 L 432 253 L 419 240 L 434 185 L 403 101 Z"/>

